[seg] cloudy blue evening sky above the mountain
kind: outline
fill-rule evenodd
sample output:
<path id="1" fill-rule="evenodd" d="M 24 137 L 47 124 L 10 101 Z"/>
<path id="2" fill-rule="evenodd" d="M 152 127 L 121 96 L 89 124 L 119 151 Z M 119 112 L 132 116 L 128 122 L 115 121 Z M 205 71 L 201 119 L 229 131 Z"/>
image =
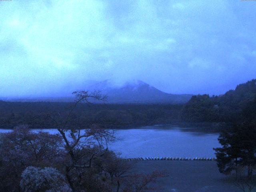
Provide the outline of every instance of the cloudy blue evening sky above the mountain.
<path id="1" fill-rule="evenodd" d="M 0 96 L 138 79 L 172 94 L 223 94 L 256 78 L 256 2 L 0 1 Z"/>

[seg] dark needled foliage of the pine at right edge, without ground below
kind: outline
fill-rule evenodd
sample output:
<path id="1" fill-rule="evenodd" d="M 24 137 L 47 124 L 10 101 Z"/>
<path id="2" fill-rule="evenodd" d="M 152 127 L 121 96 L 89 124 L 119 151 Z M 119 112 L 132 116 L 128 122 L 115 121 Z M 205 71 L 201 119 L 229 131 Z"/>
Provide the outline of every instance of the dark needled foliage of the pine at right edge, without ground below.
<path id="1" fill-rule="evenodd" d="M 218 168 L 229 174 L 237 168 L 248 167 L 248 177 L 256 166 L 256 124 L 243 122 L 222 130 L 218 138 L 221 148 L 215 148 Z"/>

